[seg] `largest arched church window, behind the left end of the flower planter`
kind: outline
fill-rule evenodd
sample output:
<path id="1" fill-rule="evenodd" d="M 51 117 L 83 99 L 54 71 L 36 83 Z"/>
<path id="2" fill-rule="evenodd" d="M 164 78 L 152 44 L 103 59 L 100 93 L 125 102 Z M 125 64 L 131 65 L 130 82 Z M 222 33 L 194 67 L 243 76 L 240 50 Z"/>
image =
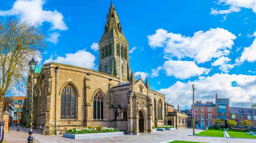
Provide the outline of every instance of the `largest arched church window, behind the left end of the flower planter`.
<path id="1" fill-rule="evenodd" d="M 62 90 L 61 119 L 76 119 L 76 93 L 70 84 Z"/>

